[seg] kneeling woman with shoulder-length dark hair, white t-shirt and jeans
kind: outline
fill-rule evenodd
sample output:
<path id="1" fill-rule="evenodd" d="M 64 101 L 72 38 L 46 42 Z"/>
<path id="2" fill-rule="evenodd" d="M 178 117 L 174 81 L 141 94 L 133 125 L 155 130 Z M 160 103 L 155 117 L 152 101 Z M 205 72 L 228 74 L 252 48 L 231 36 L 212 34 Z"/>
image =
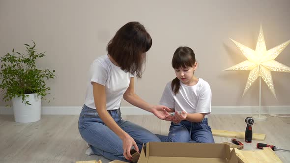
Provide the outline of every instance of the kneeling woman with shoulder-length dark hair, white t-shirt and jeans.
<path id="1" fill-rule="evenodd" d="M 90 147 L 86 153 L 128 162 L 132 159 L 132 147 L 139 151 L 143 143 L 160 141 L 145 128 L 122 120 L 120 112 L 123 97 L 160 119 L 170 116 L 169 108 L 149 105 L 134 91 L 134 76 L 141 78 L 145 53 L 151 45 L 145 27 L 139 22 L 129 22 L 109 42 L 108 54 L 91 64 L 86 101 L 79 118 L 79 132 Z"/>

